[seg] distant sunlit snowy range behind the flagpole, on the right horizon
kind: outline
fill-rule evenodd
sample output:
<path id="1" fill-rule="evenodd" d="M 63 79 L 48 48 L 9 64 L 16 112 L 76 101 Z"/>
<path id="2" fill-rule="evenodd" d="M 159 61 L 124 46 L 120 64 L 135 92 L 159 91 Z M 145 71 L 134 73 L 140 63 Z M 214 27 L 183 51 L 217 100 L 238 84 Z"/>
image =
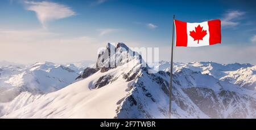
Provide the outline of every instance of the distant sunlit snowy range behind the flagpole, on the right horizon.
<path id="1" fill-rule="evenodd" d="M 170 62 L 160 61 L 154 70 L 170 72 Z M 195 72 L 201 72 L 215 77 L 216 79 L 229 81 L 229 83 L 242 86 L 243 88 L 256 90 L 255 67 L 252 64 L 219 64 L 215 62 L 191 62 L 174 63 L 174 71 L 188 68 Z"/>

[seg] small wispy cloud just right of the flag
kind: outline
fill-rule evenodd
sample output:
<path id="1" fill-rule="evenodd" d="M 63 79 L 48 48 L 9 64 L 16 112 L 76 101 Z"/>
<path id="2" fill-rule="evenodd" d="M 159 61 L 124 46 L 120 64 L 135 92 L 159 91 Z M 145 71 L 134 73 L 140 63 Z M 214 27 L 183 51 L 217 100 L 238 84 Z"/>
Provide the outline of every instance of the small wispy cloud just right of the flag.
<path id="1" fill-rule="evenodd" d="M 226 12 L 226 14 L 224 14 L 224 18 L 222 18 L 221 25 L 224 27 L 235 27 L 238 24 L 240 24 L 238 20 L 240 20 L 243 17 L 243 15 L 245 15 L 245 12 L 242 11 L 228 11 Z"/>

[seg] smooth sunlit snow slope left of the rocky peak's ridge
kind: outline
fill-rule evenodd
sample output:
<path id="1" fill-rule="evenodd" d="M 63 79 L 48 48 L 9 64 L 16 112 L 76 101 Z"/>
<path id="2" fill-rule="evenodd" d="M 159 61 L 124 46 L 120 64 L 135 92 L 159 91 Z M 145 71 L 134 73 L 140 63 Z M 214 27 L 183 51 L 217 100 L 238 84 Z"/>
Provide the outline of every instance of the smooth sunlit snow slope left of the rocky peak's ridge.
<path id="1" fill-rule="evenodd" d="M 133 62 L 129 62 L 133 63 Z M 135 62 L 135 64 L 138 62 Z M 132 66 L 133 65 L 130 65 Z M 131 68 L 117 67 L 105 73 L 97 72 L 85 80 L 77 81 L 57 92 L 49 93 L 40 98 L 35 96 L 32 103 L 20 105 L 18 110 L 13 108 L 13 102 L 33 97 L 30 93 L 23 93 L 22 97 L 16 97 L 14 101 L 5 103 L 11 114 L 2 118 L 114 118 L 116 109 L 122 98 L 129 93 L 129 85 L 133 81 L 126 82 L 122 79 L 122 73 L 128 73 Z M 112 75 L 117 78 L 113 84 L 95 89 L 98 77 Z M 114 78 L 114 79 L 115 79 Z M 26 97 L 24 97 L 26 96 Z M 1 105 L 0 105 L 1 107 Z"/>

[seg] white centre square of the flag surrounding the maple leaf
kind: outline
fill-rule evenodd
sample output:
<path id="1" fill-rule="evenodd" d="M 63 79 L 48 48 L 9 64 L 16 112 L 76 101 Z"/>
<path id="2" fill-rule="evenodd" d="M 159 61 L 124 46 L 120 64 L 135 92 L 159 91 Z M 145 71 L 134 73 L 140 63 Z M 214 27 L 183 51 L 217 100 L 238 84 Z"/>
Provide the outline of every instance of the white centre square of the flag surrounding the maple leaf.
<path id="1" fill-rule="evenodd" d="M 196 28 L 200 25 L 200 27 L 203 27 L 202 31 L 207 31 L 207 34 L 203 37 L 203 40 L 194 40 L 192 36 L 190 36 L 190 32 L 196 31 Z M 188 44 L 187 46 L 190 47 L 197 47 L 197 46 L 209 46 L 209 26 L 208 22 L 204 21 L 203 23 L 187 23 L 187 37 L 188 37 Z"/>

